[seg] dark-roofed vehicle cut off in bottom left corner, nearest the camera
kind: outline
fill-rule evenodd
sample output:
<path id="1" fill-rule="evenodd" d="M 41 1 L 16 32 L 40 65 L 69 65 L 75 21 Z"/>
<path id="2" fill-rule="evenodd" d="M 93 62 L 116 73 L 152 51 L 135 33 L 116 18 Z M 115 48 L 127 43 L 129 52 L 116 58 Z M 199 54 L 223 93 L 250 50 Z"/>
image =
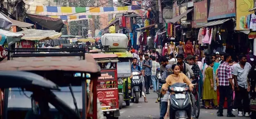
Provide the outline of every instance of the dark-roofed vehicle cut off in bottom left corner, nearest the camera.
<path id="1" fill-rule="evenodd" d="M 52 113 L 49 110 L 49 104 L 53 105 L 60 114 L 67 116 L 67 118 L 79 119 L 79 115 L 52 92 L 60 90 L 52 81 L 30 72 L 3 71 L 3 69 L 0 69 L 0 89 L 4 91 L 3 97 L 0 97 L 0 119 L 50 119 Z M 7 68 L 6 70 L 10 69 Z M 17 91 L 11 92 L 11 89 Z M 19 95 L 29 97 L 26 98 L 27 101 L 24 101 L 20 100 Z M 33 103 L 35 101 L 37 104 Z M 15 107 L 15 104 L 26 106 L 23 109 L 28 111 L 20 110 L 19 107 Z"/>

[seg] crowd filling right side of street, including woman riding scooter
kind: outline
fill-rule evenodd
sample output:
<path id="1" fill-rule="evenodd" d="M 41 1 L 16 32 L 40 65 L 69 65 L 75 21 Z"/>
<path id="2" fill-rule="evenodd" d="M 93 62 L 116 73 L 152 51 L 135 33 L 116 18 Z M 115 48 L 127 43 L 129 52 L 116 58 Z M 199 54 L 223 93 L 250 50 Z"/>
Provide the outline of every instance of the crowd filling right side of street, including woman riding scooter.
<path id="1" fill-rule="evenodd" d="M 148 51 L 131 50 L 133 54 L 132 69 L 140 68 L 145 80 L 145 94 L 153 87 L 157 91 L 157 76 L 159 71 L 166 84 L 162 87 L 160 119 L 164 119 L 167 112 L 168 93 L 167 86 L 176 82 L 191 84 L 197 80 L 197 91 L 205 109 L 218 109 L 217 116 L 223 116 L 223 108 L 227 108 L 227 117 L 235 117 L 232 110 L 238 110 L 239 117 L 250 115 L 249 94 L 255 95 L 255 62 L 248 63 L 248 57 L 241 53 L 232 60 L 229 54 L 204 54 L 203 58 L 197 55 L 183 54 L 174 57 L 173 54 L 161 56 L 155 49 Z M 190 79 L 190 80 L 189 80 Z M 253 88 L 251 88 L 251 86 Z M 189 85 L 193 89 L 193 85 Z M 145 102 L 146 96 L 145 96 Z M 252 112 L 252 116 L 255 115 Z M 192 115 L 193 117 L 193 115 Z"/>

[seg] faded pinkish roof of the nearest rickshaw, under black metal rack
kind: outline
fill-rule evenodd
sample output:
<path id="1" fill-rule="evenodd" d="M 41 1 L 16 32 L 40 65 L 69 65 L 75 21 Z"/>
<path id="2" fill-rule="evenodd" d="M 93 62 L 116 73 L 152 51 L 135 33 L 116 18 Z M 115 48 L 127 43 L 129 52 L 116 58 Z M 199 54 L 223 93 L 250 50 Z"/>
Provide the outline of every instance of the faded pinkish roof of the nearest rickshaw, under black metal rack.
<path id="1" fill-rule="evenodd" d="M 98 73 L 100 68 L 90 54 L 85 54 L 85 60 L 80 56 L 52 56 L 52 57 L 17 57 L 3 60 L 0 71 L 74 71 Z"/>

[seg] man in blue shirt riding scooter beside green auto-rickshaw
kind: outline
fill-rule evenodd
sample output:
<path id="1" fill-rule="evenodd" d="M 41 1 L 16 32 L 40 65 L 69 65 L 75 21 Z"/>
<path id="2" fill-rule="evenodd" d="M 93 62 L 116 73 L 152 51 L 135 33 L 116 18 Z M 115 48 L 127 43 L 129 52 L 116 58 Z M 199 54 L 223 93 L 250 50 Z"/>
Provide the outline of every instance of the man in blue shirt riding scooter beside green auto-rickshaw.
<path id="1" fill-rule="evenodd" d="M 135 72 L 135 71 L 141 71 L 143 73 L 143 71 L 141 70 L 142 68 L 140 67 L 140 65 L 137 64 L 138 62 L 138 59 L 137 58 L 133 58 L 132 59 L 132 72 Z M 130 76 L 130 79 L 132 79 L 133 75 L 131 74 Z M 142 81 L 142 88 L 144 88 L 144 84 L 145 81 Z M 144 85 L 143 85 L 144 84 Z M 147 98 L 146 98 L 146 95 L 144 93 L 144 89 L 142 89 L 142 94 L 141 94 L 143 97 L 144 97 L 144 102 L 148 102 Z"/>

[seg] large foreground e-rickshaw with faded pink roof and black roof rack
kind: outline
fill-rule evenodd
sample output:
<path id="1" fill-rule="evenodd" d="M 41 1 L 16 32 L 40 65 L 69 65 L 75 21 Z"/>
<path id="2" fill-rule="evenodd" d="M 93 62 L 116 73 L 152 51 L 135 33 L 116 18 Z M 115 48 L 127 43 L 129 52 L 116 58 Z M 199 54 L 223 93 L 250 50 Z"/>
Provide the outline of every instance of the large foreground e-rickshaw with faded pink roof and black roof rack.
<path id="1" fill-rule="evenodd" d="M 97 95 L 97 79 L 100 76 L 100 68 L 91 55 L 85 54 L 84 48 L 13 48 L 12 44 L 11 42 L 8 45 L 7 61 L 0 63 L 0 70 L 27 71 L 51 80 L 61 87 L 61 91 L 53 92 L 55 97 L 59 98 L 61 102 L 66 102 L 65 106 L 72 108 L 79 118 L 97 119 L 97 114 L 100 114 L 100 111 L 97 113 L 97 96 L 95 95 Z M 86 79 L 91 80 L 90 92 L 86 91 L 88 85 Z M 21 98 L 22 101 L 27 101 L 23 98 Z M 35 101 L 35 103 L 38 102 Z M 19 108 L 15 110 L 16 112 L 29 111 L 22 103 L 17 106 Z M 12 107 L 6 108 L 12 109 Z M 56 112 L 58 109 L 54 105 L 49 105 L 48 108 L 51 112 Z M 67 118 L 65 113 L 64 115 L 57 113 L 54 116 L 56 119 Z"/>

